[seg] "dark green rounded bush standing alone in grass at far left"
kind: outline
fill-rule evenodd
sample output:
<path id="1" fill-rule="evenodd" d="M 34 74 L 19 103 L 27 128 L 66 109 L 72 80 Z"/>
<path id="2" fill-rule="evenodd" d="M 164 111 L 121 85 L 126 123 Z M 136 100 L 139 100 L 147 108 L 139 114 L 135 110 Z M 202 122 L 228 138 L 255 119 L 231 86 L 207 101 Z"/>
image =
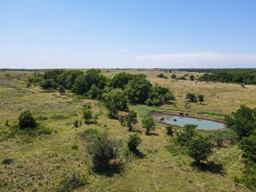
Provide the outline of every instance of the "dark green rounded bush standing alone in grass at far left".
<path id="1" fill-rule="evenodd" d="M 33 118 L 32 113 L 29 110 L 20 113 L 18 120 L 20 129 L 33 129 L 36 127 L 36 120 Z"/>

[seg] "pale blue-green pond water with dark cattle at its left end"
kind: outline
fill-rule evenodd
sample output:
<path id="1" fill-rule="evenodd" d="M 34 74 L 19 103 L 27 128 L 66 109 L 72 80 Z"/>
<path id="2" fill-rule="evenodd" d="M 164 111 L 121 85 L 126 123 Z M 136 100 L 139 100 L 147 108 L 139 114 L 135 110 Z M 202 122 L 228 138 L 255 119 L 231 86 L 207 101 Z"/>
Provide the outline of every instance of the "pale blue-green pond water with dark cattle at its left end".
<path id="1" fill-rule="evenodd" d="M 175 121 L 176 120 L 176 121 Z M 214 129 L 223 129 L 224 124 L 213 122 L 211 120 L 203 120 L 199 118 L 189 118 L 184 116 L 168 116 L 168 118 L 164 118 L 163 122 L 172 125 L 184 126 L 185 124 L 195 124 L 198 125 L 196 129 L 204 129 L 204 130 L 214 130 Z"/>

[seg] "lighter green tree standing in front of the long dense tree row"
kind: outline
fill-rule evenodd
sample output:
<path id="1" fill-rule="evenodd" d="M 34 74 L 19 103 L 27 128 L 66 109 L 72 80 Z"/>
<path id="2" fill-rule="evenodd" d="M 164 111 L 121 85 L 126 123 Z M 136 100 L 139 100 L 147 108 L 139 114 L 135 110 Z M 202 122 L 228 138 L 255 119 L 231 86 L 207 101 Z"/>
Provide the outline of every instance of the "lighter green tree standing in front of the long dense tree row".
<path id="1" fill-rule="evenodd" d="M 127 109 L 127 99 L 121 89 L 116 88 L 110 93 L 104 93 L 102 97 L 105 100 L 106 109 L 109 111 L 109 116 L 117 115 L 119 110 Z"/>

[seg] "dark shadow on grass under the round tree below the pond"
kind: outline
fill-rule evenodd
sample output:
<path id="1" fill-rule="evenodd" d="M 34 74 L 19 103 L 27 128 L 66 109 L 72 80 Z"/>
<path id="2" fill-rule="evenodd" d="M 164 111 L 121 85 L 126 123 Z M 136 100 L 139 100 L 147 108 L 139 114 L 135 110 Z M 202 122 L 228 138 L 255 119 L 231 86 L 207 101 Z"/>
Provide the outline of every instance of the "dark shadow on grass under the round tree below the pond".
<path id="1" fill-rule="evenodd" d="M 195 161 L 191 163 L 193 168 L 198 169 L 202 172 L 211 172 L 215 174 L 220 174 L 224 176 L 226 174 L 222 164 L 216 164 L 214 161 L 209 161 L 207 163 L 196 163 Z"/>

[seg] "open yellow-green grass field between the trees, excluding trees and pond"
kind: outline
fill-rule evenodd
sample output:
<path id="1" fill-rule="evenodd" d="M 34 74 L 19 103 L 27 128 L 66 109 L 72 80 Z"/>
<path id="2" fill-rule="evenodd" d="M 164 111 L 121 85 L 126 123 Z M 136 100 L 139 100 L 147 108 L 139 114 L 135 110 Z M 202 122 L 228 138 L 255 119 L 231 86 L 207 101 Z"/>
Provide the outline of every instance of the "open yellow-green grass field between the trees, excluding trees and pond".
<path id="1" fill-rule="evenodd" d="M 106 70 L 102 70 L 106 76 L 122 72 L 104 72 Z M 240 104 L 256 107 L 253 106 L 256 104 L 253 97 L 256 86 L 248 85 L 243 89 L 239 84 L 195 84 L 195 81 L 182 80 L 172 83 L 170 79 L 164 81 L 156 78 L 162 73 L 159 71 L 125 72 L 147 74 L 152 84 L 170 88 L 176 100 L 159 108 L 130 106 L 138 111 L 139 123 L 134 125 L 133 132 L 140 133 L 143 141 L 138 149 L 145 157 L 126 159 L 120 152 L 116 162 L 112 162 L 112 169 L 101 174 L 92 171 L 92 162 L 85 150 L 86 142 L 79 137 L 79 132 L 88 128 L 108 131 L 119 140 L 120 150 L 124 150 L 129 134 L 133 133 L 128 132 L 128 128 L 120 125 L 118 120 L 109 119 L 103 103 L 81 99 L 71 92 L 60 95 L 58 92 L 45 92 L 38 86 L 25 88 L 22 79 L 9 81 L 0 78 L 0 162 L 6 156 L 13 159 L 11 164 L 0 164 L 0 191 L 56 191 L 59 182 L 74 172 L 88 180 L 88 184 L 75 191 L 249 191 L 243 184 L 234 182 L 235 177 L 241 177 L 243 168 L 241 150 L 236 145 L 215 148 L 214 155 L 208 163 L 205 162 L 205 170 L 199 170 L 191 166 L 193 159 L 185 154 L 184 148 L 177 148 L 180 152 L 177 155 L 166 149 L 166 146 L 173 145 L 173 139 L 166 135 L 164 125 L 157 124 L 156 131 L 146 136 L 141 119 L 150 111 L 186 111 L 193 115 L 223 119 L 221 115 L 236 111 Z M 4 77 L 2 73 L 6 72 L 0 74 Z M 183 76 L 186 72 L 176 74 Z M 172 73 L 165 75 L 169 77 Z M 205 102 L 186 102 L 188 92 L 203 94 Z M 84 104 L 91 104 L 93 113 L 99 114 L 96 125 L 84 124 L 81 114 Z M 51 135 L 6 138 L 6 132 L 10 132 L 10 127 L 5 125 L 6 120 L 10 125 L 17 124 L 19 114 L 25 109 L 30 109 L 35 117 L 46 116 L 48 119 L 42 124 L 52 129 Z M 68 118 L 54 120 L 51 119 L 52 115 L 65 115 Z M 82 120 L 81 126 L 74 128 L 74 120 Z M 211 131 L 198 132 L 209 134 Z M 77 150 L 72 149 L 74 144 L 78 146 Z"/>

